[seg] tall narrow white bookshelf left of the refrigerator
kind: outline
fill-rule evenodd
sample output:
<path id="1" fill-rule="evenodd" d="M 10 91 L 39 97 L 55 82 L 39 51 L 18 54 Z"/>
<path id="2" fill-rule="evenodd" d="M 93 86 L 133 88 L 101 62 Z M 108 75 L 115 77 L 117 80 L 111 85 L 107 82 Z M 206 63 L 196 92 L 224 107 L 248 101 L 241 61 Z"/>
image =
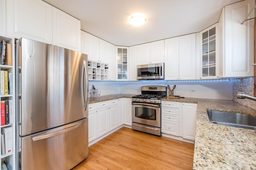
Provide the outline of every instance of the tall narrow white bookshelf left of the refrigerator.
<path id="1" fill-rule="evenodd" d="M 15 47 L 14 47 L 15 41 L 14 41 L 14 38 L 12 38 L 12 37 L 6 37 L 6 36 L 0 35 L 0 42 L 2 42 L 3 40 L 6 41 L 6 43 L 12 45 L 12 47 L 11 47 L 12 65 L 0 64 L 1 71 L 7 71 L 8 73 L 10 73 L 10 74 L 8 74 L 8 78 L 10 78 L 10 80 L 8 81 L 8 86 L 9 86 L 8 93 L 7 94 L 0 93 L 0 98 L 1 98 L 1 101 L 2 100 L 8 100 L 8 101 L 11 100 L 12 107 L 9 107 L 9 109 L 8 109 L 9 110 L 9 123 L 8 124 L 4 123 L 4 125 L 3 125 L 3 122 L 1 121 L 0 128 L 1 128 L 1 132 L 4 131 L 3 129 L 9 128 L 9 130 L 11 131 L 10 137 L 12 137 L 12 139 L 10 140 L 10 138 L 9 138 L 9 140 L 8 139 L 6 139 L 7 141 L 5 140 L 6 144 L 10 145 L 10 147 L 11 147 L 11 150 L 9 152 L 8 152 L 8 150 L 5 150 L 5 154 L 3 155 L 2 154 L 2 151 L 3 151 L 2 146 L 0 147 L 0 151 L 1 151 L 0 158 L 1 158 L 1 162 L 4 161 L 6 163 L 6 166 L 8 169 L 15 170 L 16 169 L 16 163 L 15 163 L 15 160 L 16 160 L 16 156 L 15 156 L 15 154 L 16 154 L 16 152 L 15 152 L 15 143 L 16 143 L 16 140 L 15 140 L 15 125 L 16 125 L 16 121 L 15 121 L 15 50 L 14 50 L 15 49 Z M 10 54 L 10 53 L 8 53 L 8 54 Z M 12 90 L 10 90 L 10 84 L 12 84 Z M 2 86 L 2 82 L 0 83 L 0 86 Z M 12 93 L 10 91 L 12 91 Z M 10 103 L 9 103 L 9 106 L 10 106 Z M 2 111 L 2 109 L 1 109 L 1 111 Z M 10 114 L 10 113 L 12 113 L 12 114 Z M 0 138 L 0 140 L 1 140 L 1 144 L 2 144 L 2 137 Z"/>

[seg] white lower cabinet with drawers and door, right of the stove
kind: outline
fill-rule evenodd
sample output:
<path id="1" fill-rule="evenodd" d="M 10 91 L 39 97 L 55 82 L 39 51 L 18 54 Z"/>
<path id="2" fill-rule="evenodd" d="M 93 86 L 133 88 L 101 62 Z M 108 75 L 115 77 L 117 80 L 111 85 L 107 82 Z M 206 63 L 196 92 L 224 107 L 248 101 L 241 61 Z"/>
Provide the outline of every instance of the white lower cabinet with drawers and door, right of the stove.
<path id="1" fill-rule="evenodd" d="M 196 132 L 197 104 L 162 101 L 162 136 L 193 143 Z"/>

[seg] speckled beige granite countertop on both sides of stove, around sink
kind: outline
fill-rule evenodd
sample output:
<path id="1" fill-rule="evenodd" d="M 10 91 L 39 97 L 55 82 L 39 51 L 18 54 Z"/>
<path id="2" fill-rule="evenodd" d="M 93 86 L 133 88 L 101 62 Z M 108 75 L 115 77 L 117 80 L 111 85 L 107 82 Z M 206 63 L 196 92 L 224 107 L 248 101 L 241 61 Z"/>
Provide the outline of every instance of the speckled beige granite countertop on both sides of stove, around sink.
<path id="1" fill-rule="evenodd" d="M 131 98 L 132 94 L 114 94 L 89 98 L 89 104 L 117 98 Z M 243 113 L 256 117 L 256 111 L 233 100 L 201 98 L 162 98 L 164 101 L 197 103 L 196 139 L 193 169 L 256 169 L 256 131 L 217 125 L 209 121 L 207 110 Z"/>

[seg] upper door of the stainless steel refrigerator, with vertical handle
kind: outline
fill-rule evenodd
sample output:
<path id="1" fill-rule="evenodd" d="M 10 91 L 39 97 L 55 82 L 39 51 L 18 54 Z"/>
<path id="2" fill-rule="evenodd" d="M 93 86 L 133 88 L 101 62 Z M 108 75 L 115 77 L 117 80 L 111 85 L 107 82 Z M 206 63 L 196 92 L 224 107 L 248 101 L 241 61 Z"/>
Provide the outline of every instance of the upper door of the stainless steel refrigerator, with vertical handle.
<path id="1" fill-rule="evenodd" d="M 21 56 L 21 136 L 88 117 L 87 55 L 22 38 Z"/>

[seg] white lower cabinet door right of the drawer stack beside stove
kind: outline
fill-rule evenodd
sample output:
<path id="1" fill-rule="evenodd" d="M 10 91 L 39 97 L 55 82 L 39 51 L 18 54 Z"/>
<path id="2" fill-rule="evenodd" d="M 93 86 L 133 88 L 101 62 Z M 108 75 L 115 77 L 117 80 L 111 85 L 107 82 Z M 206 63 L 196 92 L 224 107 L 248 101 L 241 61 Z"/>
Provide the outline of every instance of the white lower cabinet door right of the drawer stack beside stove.
<path id="1" fill-rule="evenodd" d="M 197 104 L 193 104 L 193 103 L 182 104 L 183 138 L 185 139 L 195 140 L 196 107 L 197 107 Z"/>

